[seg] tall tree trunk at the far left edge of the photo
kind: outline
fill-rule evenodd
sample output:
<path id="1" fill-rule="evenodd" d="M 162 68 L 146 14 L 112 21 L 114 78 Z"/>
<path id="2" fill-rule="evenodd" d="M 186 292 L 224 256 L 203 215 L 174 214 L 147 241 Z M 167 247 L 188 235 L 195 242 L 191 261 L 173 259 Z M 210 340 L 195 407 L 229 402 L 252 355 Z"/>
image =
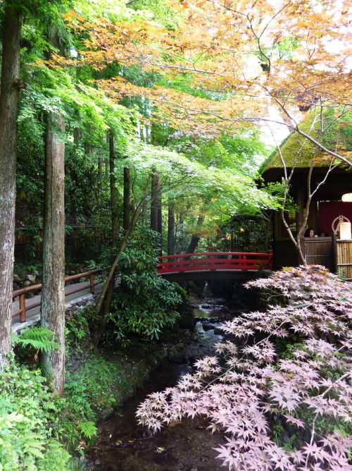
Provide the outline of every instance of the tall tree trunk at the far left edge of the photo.
<path id="1" fill-rule="evenodd" d="M 6 6 L 0 93 L 0 367 L 11 350 L 15 246 L 15 141 L 20 90 L 20 10 Z"/>

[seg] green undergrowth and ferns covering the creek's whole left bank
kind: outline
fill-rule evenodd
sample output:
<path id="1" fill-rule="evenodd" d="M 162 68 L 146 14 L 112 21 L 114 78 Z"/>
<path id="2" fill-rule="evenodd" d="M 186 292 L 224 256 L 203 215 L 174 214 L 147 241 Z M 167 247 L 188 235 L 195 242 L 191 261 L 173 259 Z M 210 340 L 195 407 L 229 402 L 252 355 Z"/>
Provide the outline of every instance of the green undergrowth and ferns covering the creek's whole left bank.
<path id="1" fill-rule="evenodd" d="M 33 327 L 13 338 L 15 354 L 0 374 L 0 471 L 89 469 L 77 457 L 94 444 L 99 417 L 118 409 L 155 365 L 151 345 L 143 360 L 94 350 L 91 321 L 89 308 L 68 313 L 64 398 L 53 396 L 40 371 L 42 352 L 58 348 L 54 334 Z"/>

